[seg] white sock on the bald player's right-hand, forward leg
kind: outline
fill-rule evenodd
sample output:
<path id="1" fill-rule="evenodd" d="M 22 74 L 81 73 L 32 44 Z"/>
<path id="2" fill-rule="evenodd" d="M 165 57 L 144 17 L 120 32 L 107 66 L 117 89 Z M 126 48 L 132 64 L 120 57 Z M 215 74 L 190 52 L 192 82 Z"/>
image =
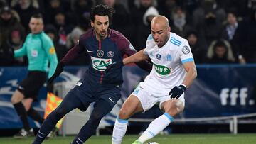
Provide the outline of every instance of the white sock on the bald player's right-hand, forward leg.
<path id="1" fill-rule="evenodd" d="M 169 113 L 164 113 L 149 124 L 149 127 L 146 128 L 146 131 L 142 133 L 138 140 L 144 143 L 146 140 L 153 138 L 160 131 L 163 131 L 171 121 L 174 121 L 174 118 Z"/>

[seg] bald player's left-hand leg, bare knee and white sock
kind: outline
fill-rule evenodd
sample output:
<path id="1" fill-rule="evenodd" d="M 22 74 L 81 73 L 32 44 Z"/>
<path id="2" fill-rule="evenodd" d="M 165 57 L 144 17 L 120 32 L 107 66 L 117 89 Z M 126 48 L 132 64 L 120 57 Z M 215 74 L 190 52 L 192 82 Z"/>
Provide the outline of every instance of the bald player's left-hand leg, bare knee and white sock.
<path id="1" fill-rule="evenodd" d="M 140 103 L 137 96 L 130 95 L 124 102 L 122 108 L 119 111 L 119 116 L 114 123 L 112 144 L 122 143 L 122 138 L 124 137 L 127 130 L 128 118 L 139 111 L 143 111 L 142 104 Z"/>

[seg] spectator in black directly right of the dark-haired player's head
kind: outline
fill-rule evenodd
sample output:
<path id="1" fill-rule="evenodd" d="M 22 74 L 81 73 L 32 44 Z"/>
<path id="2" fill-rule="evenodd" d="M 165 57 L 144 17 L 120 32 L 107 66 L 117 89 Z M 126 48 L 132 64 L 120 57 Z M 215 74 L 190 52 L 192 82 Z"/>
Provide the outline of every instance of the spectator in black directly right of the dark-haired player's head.
<path id="1" fill-rule="evenodd" d="M 122 5 L 122 3 L 117 2 L 116 0 L 102 0 L 103 4 L 114 8 L 112 23 L 110 28 L 113 28 L 119 32 L 121 32 L 128 39 L 131 39 L 132 36 L 130 32 L 132 28 L 130 26 L 129 13 L 127 9 Z"/>

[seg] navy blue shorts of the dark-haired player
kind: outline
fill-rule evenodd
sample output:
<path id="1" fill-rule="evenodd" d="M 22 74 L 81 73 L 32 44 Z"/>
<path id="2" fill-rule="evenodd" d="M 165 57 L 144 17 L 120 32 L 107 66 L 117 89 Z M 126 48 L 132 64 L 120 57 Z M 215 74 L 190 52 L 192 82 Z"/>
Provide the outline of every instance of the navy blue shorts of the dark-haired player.
<path id="1" fill-rule="evenodd" d="M 121 86 L 119 84 L 89 83 L 85 79 L 80 79 L 80 81 L 75 84 L 75 87 L 71 89 L 67 95 L 71 94 L 78 97 L 83 104 L 83 106 L 78 107 L 78 109 L 85 111 L 90 103 L 97 103 L 100 99 L 107 101 L 113 108 L 121 97 L 120 92 Z"/>

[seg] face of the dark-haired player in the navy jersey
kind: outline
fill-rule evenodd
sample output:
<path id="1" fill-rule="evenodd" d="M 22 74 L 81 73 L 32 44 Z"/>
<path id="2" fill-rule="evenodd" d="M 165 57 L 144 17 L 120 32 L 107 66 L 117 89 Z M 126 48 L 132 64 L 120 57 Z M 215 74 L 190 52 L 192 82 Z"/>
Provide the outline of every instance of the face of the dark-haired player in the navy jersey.
<path id="1" fill-rule="evenodd" d="M 91 22 L 92 27 L 95 29 L 97 38 L 104 39 L 107 37 L 107 28 L 110 26 L 108 16 L 95 16 L 95 21 Z"/>

